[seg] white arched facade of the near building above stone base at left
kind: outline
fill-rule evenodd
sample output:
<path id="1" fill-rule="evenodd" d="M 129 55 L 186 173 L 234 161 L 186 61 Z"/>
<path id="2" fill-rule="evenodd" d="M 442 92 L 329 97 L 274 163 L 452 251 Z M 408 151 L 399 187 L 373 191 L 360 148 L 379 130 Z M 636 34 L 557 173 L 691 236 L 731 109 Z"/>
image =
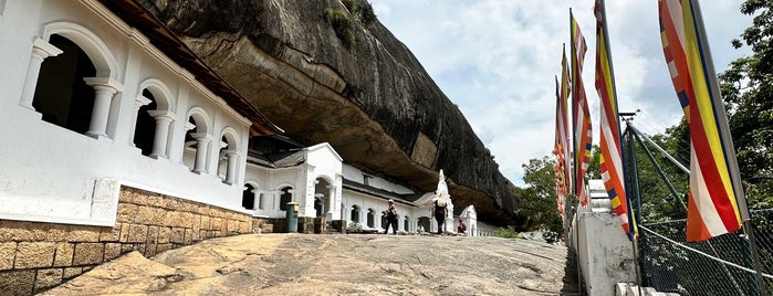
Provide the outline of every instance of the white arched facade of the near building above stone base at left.
<path id="1" fill-rule="evenodd" d="M 205 121 L 197 123 L 206 127 L 202 134 L 228 130 L 239 156 L 247 155 L 249 119 L 97 1 L 7 6 L 25 13 L 2 15 L 14 27 L 0 34 L 0 134 L 13 145 L 0 147 L 0 219 L 113 225 L 121 186 L 243 211 L 243 158 L 233 162 L 231 182 L 219 178 L 217 162 L 206 162 L 220 151 L 208 147 L 197 173 L 182 159 L 188 110 L 200 110 L 194 114 Z M 52 35 L 74 43 L 94 66 L 96 74 L 83 78 L 94 89 L 85 133 L 43 120 L 32 105 L 41 67 L 63 53 L 49 42 Z M 144 89 L 153 94 L 158 107 L 152 116 L 160 121 L 150 157 L 134 144 Z"/>

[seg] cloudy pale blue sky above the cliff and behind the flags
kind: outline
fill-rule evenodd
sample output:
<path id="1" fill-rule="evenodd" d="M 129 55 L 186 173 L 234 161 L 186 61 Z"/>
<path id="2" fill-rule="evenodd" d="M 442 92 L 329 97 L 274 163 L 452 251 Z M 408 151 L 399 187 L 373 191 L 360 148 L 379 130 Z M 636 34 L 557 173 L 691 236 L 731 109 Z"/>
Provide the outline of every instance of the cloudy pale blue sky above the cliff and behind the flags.
<path id="1" fill-rule="evenodd" d="M 376 17 L 459 106 L 500 171 L 523 186 L 530 159 L 550 156 L 555 140 L 555 76 L 563 44 L 570 55 L 570 9 L 588 51 L 583 80 L 598 145 L 599 101 L 594 86 L 594 0 L 369 0 Z M 748 47 L 731 46 L 752 17 L 742 0 L 702 1 L 714 68 L 722 72 Z M 679 123 L 682 112 L 666 66 L 658 3 L 606 1 L 618 109 L 637 112 L 649 135 Z"/>

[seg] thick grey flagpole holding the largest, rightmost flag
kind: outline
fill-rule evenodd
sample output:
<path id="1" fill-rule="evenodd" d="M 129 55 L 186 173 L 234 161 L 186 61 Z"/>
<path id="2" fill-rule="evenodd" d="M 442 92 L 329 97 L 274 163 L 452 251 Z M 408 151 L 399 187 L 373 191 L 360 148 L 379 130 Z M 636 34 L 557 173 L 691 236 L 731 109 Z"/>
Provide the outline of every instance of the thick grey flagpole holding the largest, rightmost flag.
<path id="1" fill-rule="evenodd" d="M 709 43 L 706 38 L 706 27 L 703 24 L 703 14 L 700 10 L 700 3 L 697 0 L 689 0 L 690 7 L 696 11 L 693 13 L 696 17 L 696 30 L 698 30 L 698 41 L 703 44 L 702 50 L 706 54 L 706 68 L 709 72 L 709 81 L 711 87 L 711 96 L 713 101 L 712 104 L 717 109 L 721 110 L 719 116 L 717 116 L 717 121 L 719 124 L 720 131 L 724 135 L 725 140 L 722 140 L 722 146 L 724 148 L 728 166 L 730 167 L 730 178 L 732 179 L 733 192 L 735 193 L 735 202 L 738 204 L 738 210 L 741 214 L 741 221 L 743 221 L 743 232 L 749 237 L 749 244 L 752 250 L 752 258 L 754 261 L 754 271 L 756 272 L 758 287 L 760 288 L 760 294 L 767 296 L 767 289 L 765 287 L 765 282 L 762 277 L 762 266 L 760 263 L 760 253 L 756 247 L 756 242 L 754 237 L 754 229 L 752 228 L 752 220 L 749 216 L 749 208 L 746 204 L 746 195 L 743 190 L 743 183 L 741 180 L 741 173 L 738 166 L 738 160 L 735 159 L 735 148 L 733 147 L 732 135 L 730 134 L 730 125 L 728 124 L 727 112 L 724 110 L 724 102 L 722 102 L 722 94 L 719 91 L 719 82 L 717 81 L 717 72 L 714 71 L 714 62 L 711 57 L 711 50 L 709 49 Z"/>

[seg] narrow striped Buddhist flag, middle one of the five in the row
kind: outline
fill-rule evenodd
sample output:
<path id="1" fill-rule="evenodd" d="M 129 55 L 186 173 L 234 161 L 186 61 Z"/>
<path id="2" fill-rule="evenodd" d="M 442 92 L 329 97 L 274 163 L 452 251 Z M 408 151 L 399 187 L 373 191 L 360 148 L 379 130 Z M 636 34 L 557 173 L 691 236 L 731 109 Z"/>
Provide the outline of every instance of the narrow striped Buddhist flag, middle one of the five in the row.
<path id="1" fill-rule="evenodd" d="M 588 197 L 585 190 L 585 173 L 591 162 L 591 147 L 593 134 L 591 130 L 591 113 L 583 86 L 583 60 L 587 51 L 585 38 L 579 31 L 577 21 L 570 10 L 571 38 L 572 38 L 572 110 L 574 128 L 574 193 L 582 205 L 587 204 Z"/>

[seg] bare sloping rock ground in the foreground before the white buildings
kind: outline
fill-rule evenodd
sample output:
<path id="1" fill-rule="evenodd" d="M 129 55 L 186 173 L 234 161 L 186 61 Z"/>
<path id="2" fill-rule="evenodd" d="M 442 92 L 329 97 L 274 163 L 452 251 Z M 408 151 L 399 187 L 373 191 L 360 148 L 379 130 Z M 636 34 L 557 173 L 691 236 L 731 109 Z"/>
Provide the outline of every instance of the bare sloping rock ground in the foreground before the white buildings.
<path id="1" fill-rule="evenodd" d="M 250 234 L 128 253 L 41 295 L 577 295 L 566 252 L 500 237 Z"/>

